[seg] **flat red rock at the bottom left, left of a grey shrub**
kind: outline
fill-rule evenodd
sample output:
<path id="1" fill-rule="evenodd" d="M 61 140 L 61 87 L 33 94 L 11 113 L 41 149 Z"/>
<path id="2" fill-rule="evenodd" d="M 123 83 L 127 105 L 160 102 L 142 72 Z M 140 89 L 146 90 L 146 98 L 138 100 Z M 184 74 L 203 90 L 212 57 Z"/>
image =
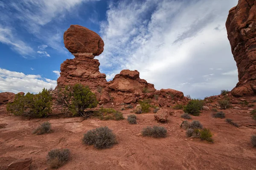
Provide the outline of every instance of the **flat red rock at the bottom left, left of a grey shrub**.
<path id="1" fill-rule="evenodd" d="M 9 164 L 7 170 L 29 170 L 31 162 L 31 158 L 19 159 Z"/>

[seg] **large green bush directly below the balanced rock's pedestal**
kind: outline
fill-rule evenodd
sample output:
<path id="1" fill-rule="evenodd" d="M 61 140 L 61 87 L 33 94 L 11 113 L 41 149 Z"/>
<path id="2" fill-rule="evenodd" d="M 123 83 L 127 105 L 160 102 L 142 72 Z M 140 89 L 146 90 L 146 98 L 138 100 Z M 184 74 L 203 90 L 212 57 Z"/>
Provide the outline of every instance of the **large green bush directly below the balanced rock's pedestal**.
<path id="1" fill-rule="evenodd" d="M 81 84 L 66 85 L 64 89 L 58 88 L 56 101 L 70 116 L 88 116 L 85 115 L 84 110 L 95 108 L 98 104 L 96 95 L 90 91 L 88 86 Z"/>

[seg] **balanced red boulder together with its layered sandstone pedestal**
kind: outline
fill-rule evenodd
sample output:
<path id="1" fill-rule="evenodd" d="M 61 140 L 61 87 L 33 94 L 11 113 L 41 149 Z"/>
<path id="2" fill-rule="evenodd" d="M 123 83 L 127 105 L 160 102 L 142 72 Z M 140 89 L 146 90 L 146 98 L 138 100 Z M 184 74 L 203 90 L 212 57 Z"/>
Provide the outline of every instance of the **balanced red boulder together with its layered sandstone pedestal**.
<path id="1" fill-rule="evenodd" d="M 99 60 L 94 56 L 103 52 L 104 42 L 95 32 L 78 25 L 71 25 L 64 33 L 65 47 L 75 56 L 61 64 L 57 88 L 81 83 L 92 91 L 97 86 L 106 87 L 106 75 L 99 72 Z"/>

